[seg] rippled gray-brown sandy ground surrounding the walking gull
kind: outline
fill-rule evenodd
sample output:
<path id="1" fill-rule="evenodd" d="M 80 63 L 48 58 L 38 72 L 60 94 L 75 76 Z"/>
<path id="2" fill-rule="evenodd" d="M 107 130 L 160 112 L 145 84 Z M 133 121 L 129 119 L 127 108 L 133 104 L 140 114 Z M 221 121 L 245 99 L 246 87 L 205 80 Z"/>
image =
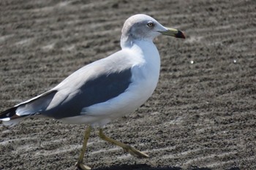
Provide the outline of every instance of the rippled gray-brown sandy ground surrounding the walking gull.
<path id="1" fill-rule="evenodd" d="M 124 20 L 145 13 L 187 39 L 156 39 L 154 95 L 105 127 L 151 157 L 102 142 L 93 169 L 256 169 L 256 1 L 0 1 L 0 110 L 53 88 L 120 49 Z M 0 125 L 0 169 L 74 169 L 85 125 L 29 118 Z"/>

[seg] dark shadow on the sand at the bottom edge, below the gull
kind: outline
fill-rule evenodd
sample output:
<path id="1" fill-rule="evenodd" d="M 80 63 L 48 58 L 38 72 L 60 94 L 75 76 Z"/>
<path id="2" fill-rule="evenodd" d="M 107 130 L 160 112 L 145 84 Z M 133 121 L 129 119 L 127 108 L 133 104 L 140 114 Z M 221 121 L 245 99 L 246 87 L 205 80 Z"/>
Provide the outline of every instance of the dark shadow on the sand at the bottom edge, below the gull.
<path id="1" fill-rule="evenodd" d="M 135 165 L 118 165 L 104 168 L 98 168 L 93 170 L 182 170 L 177 166 L 165 166 L 165 167 L 151 167 L 147 164 L 135 164 Z M 197 166 L 191 167 L 189 170 L 211 170 L 209 168 L 199 168 Z"/>

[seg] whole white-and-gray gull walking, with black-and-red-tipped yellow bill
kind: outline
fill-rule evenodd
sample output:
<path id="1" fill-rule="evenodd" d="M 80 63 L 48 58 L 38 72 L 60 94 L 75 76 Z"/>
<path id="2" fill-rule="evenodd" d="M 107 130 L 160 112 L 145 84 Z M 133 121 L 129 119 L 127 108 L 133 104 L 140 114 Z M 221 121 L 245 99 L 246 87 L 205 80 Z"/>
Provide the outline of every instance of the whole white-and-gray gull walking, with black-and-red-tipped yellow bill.
<path id="1" fill-rule="evenodd" d="M 55 88 L 0 113 L 4 125 L 15 125 L 26 117 L 51 117 L 65 123 L 87 125 L 83 147 L 75 164 L 83 164 L 92 128 L 99 127 L 99 137 L 138 158 L 148 158 L 135 147 L 118 142 L 103 133 L 111 120 L 134 112 L 154 92 L 160 72 L 160 56 L 154 45 L 159 35 L 184 39 L 184 33 L 162 26 L 148 15 L 128 18 L 121 30 L 121 50 L 94 61 L 64 79 Z"/>

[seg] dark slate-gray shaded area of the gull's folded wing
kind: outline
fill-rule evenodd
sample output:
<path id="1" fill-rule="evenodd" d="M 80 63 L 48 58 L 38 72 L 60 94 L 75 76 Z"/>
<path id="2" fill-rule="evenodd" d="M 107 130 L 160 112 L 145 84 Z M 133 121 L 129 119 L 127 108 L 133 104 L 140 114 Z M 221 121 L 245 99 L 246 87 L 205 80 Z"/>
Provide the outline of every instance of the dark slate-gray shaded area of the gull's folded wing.
<path id="1" fill-rule="evenodd" d="M 58 100 L 60 96 L 62 101 L 53 101 L 58 104 L 53 104 L 53 107 L 45 109 L 41 114 L 56 119 L 80 115 L 83 108 L 108 101 L 124 93 L 131 83 L 131 78 L 131 69 L 124 69 L 121 72 L 104 72 L 97 77 L 91 77 L 74 89 L 60 89 L 55 98 Z M 72 82 L 69 83 L 73 86 Z M 61 93 L 64 94 L 61 95 Z"/>

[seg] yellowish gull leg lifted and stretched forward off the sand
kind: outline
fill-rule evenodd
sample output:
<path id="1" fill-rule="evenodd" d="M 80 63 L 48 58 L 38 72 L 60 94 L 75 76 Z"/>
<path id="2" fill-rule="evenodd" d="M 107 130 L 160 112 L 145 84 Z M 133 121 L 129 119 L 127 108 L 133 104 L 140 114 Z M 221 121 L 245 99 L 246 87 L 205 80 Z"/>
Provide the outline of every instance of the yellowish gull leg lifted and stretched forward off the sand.
<path id="1" fill-rule="evenodd" d="M 146 153 L 140 152 L 139 150 L 136 150 L 134 147 L 128 145 L 128 144 L 124 144 L 122 142 L 118 142 L 114 139 L 110 139 L 108 136 L 106 136 L 103 133 L 102 128 L 99 128 L 99 137 L 107 142 L 110 142 L 111 144 L 115 144 L 118 147 L 123 148 L 126 152 L 129 152 L 129 154 L 136 156 L 138 158 L 148 158 L 149 156 L 146 155 Z"/>

